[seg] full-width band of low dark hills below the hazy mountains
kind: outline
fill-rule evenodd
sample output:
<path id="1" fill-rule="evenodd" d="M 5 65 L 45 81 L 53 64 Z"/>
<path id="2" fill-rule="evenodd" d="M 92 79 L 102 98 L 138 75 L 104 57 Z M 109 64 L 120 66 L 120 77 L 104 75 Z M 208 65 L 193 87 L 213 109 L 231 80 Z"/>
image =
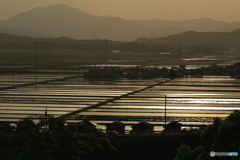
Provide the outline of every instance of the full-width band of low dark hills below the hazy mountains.
<path id="1" fill-rule="evenodd" d="M 34 49 L 38 41 L 40 50 L 80 50 L 80 51 L 104 51 L 105 40 L 77 40 L 67 37 L 59 38 L 32 38 L 0 33 L 0 49 Z M 232 32 L 196 32 L 170 35 L 161 38 L 139 38 L 133 42 L 108 41 L 109 50 L 123 51 L 152 51 L 155 46 L 161 50 L 162 46 L 221 46 L 223 48 L 240 49 L 240 29 Z M 221 48 L 220 47 L 220 48 Z M 170 47 L 171 48 L 171 47 Z M 163 47 L 164 49 L 164 47 Z"/>

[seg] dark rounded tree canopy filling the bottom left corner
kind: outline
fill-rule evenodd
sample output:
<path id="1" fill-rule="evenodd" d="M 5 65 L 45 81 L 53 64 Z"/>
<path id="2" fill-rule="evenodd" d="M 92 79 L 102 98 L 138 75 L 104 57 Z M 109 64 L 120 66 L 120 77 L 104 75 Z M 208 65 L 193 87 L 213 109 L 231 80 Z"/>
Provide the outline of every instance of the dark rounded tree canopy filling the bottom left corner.
<path id="1" fill-rule="evenodd" d="M 106 135 L 85 123 L 64 125 L 50 117 L 49 126 L 31 118 L 0 125 L 0 159 L 6 160 L 94 160 L 105 159 L 116 151 Z"/>

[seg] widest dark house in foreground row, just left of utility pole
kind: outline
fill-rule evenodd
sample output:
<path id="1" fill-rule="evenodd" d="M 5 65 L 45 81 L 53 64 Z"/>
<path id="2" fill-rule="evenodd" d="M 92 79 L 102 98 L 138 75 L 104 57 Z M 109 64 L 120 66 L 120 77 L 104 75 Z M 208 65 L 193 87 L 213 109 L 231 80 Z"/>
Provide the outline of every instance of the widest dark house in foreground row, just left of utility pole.
<path id="1" fill-rule="evenodd" d="M 130 134 L 153 134 L 154 126 L 147 122 L 140 122 L 132 126 Z"/>

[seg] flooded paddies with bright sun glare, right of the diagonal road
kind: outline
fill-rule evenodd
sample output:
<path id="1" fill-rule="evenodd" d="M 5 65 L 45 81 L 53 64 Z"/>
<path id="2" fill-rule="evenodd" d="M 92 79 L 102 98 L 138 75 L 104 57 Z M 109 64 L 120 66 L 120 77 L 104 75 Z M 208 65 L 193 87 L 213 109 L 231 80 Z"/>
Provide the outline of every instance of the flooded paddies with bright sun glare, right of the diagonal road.
<path id="1" fill-rule="evenodd" d="M 168 121 L 185 122 L 192 117 L 195 122 L 206 123 L 213 120 L 210 117 L 224 118 L 240 110 L 239 88 L 236 87 L 239 85 L 240 80 L 226 76 L 178 78 L 79 115 L 140 116 L 150 121 L 148 117 L 155 117 L 162 121 L 166 95 Z"/>

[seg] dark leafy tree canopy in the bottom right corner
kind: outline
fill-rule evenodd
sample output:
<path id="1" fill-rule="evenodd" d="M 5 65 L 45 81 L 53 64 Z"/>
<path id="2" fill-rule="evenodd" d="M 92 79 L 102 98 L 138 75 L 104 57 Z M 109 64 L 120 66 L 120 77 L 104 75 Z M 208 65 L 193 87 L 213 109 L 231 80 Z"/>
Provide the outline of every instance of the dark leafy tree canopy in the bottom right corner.
<path id="1" fill-rule="evenodd" d="M 208 160 L 210 152 L 238 152 L 240 154 L 240 111 L 234 111 L 224 121 L 215 118 L 212 125 L 201 134 L 202 145 L 191 149 L 182 144 L 175 160 Z M 217 157 L 218 159 L 239 159 L 238 157 Z"/>

